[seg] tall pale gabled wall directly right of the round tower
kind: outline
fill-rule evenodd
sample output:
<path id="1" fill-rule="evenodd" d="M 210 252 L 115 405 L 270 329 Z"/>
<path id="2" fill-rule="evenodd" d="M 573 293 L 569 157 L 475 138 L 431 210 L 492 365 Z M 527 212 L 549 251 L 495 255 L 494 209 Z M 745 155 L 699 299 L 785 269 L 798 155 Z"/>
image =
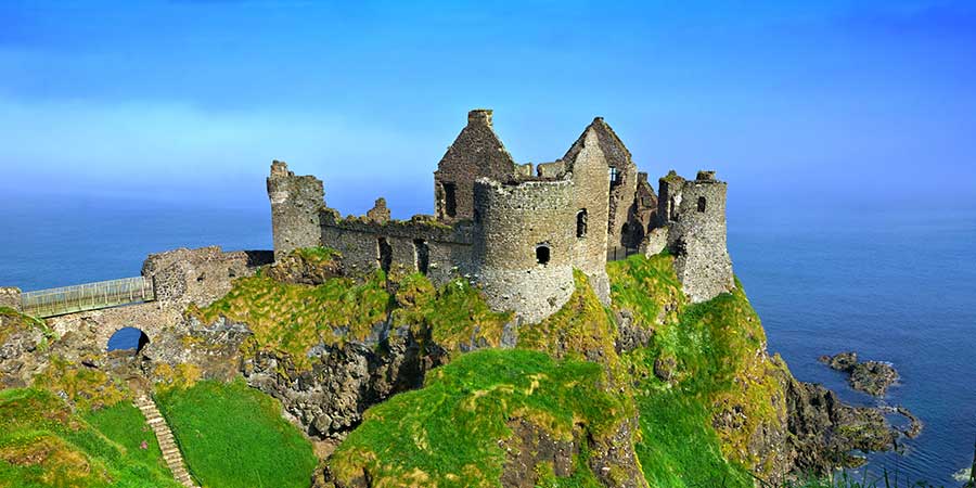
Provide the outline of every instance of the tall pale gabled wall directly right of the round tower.
<path id="1" fill-rule="evenodd" d="M 564 160 L 573 178 L 575 218 L 562 223 L 573 232 L 573 266 L 587 273 L 596 296 L 609 305 L 607 233 L 604 231 L 609 213 L 609 174 L 600 149 L 600 134 L 592 125 L 579 137 Z"/>

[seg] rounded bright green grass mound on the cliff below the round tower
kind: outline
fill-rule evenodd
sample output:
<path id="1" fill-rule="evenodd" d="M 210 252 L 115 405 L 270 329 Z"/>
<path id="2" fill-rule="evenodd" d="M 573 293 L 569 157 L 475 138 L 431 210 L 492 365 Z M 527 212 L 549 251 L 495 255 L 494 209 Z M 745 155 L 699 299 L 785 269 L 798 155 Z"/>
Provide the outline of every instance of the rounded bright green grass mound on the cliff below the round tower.
<path id="1" fill-rule="evenodd" d="M 368 410 L 330 466 L 345 483 L 367 472 L 373 486 L 497 487 L 505 459 L 499 441 L 511 435 L 513 419 L 561 440 L 612 432 L 625 407 L 603 391 L 602 382 L 599 364 L 555 361 L 537 351 L 463 355 L 434 370 L 424 388 Z M 577 459 L 577 466 L 585 465 Z M 545 486 L 595 483 L 580 470 L 562 480 L 541 475 Z"/>

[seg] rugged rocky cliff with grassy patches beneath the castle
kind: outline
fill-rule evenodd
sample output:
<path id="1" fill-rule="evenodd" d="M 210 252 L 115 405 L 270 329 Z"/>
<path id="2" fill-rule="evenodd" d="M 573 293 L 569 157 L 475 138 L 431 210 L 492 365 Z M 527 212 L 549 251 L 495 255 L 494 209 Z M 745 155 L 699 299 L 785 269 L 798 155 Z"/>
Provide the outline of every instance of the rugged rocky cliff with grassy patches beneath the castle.
<path id="1" fill-rule="evenodd" d="M 567 304 L 536 324 L 492 312 L 463 280 L 355 282 L 309 256 L 191 306 L 151 358 L 113 359 L 84 328 L 40 346 L 41 324 L 7 313 L 0 351 L 21 352 L 0 355 L 0 372 L 75 403 L 128 395 L 126 378 L 240 373 L 326 447 L 320 487 L 749 487 L 892 440 L 882 415 L 767 352 L 741 283 L 690 304 L 668 255 L 611 264 L 611 307 L 577 272 Z"/>

